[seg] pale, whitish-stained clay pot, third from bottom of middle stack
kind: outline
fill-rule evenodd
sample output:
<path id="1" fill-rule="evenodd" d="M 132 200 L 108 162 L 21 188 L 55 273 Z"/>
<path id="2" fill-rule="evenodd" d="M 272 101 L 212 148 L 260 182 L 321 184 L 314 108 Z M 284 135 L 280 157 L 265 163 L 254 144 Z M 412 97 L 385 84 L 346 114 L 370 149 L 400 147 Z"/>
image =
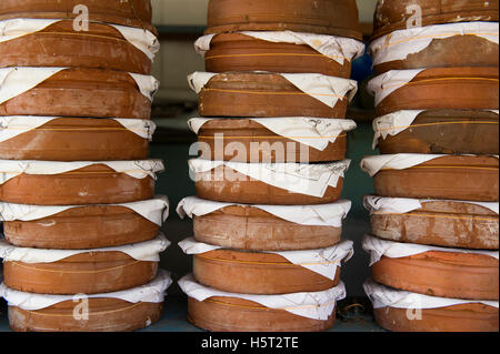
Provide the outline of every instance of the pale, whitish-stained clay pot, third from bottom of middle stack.
<path id="1" fill-rule="evenodd" d="M 294 224 L 251 206 L 227 206 L 193 219 L 198 242 L 249 251 L 300 251 L 338 244 L 341 227 Z"/>

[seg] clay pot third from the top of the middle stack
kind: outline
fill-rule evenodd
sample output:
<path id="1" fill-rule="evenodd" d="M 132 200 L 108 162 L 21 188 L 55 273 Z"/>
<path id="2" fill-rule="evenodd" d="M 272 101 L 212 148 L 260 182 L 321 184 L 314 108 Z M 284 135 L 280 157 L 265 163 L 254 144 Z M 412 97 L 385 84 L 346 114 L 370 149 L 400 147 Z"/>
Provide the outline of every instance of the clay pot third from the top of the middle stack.
<path id="1" fill-rule="evenodd" d="M 346 117 L 348 98 L 330 108 L 272 73 L 223 73 L 211 78 L 198 97 L 202 117 Z"/>

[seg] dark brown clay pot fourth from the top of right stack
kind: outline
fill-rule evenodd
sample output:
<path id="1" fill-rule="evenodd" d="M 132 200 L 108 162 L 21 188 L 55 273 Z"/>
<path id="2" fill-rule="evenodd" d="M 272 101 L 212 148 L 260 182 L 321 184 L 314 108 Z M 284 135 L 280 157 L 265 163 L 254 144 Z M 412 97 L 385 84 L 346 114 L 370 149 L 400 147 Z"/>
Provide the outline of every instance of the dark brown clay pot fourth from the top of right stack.
<path id="1" fill-rule="evenodd" d="M 397 135 L 379 139 L 382 154 L 498 154 L 498 113 L 430 110 Z"/>

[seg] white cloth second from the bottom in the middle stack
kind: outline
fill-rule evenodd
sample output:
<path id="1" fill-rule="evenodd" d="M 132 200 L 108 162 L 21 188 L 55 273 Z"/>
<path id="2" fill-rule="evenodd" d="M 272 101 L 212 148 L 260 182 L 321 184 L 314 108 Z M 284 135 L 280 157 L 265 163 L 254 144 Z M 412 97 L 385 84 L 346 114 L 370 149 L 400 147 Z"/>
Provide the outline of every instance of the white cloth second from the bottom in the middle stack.
<path id="1" fill-rule="evenodd" d="M 181 247 L 186 254 L 202 254 L 210 251 L 226 249 L 197 242 L 193 237 L 179 242 L 179 247 Z M 343 241 L 334 246 L 320 250 L 283 252 L 266 251 L 262 253 L 281 255 L 292 264 L 303 266 L 304 269 L 333 280 L 337 274 L 337 269 L 341 266 L 341 262 L 349 261 L 354 254 L 354 249 L 352 241 Z"/>

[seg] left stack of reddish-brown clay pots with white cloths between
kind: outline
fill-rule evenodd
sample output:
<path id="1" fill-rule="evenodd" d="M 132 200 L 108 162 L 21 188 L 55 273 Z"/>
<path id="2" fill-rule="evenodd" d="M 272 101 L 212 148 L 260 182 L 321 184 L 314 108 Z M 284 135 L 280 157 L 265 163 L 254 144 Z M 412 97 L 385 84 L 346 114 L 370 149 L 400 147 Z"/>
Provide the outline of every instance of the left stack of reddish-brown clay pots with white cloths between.
<path id="1" fill-rule="evenodd" d="M 149 0 L 0 1 L 0 294 L 16 331 L 160 317 L 150 22 Z"/>

